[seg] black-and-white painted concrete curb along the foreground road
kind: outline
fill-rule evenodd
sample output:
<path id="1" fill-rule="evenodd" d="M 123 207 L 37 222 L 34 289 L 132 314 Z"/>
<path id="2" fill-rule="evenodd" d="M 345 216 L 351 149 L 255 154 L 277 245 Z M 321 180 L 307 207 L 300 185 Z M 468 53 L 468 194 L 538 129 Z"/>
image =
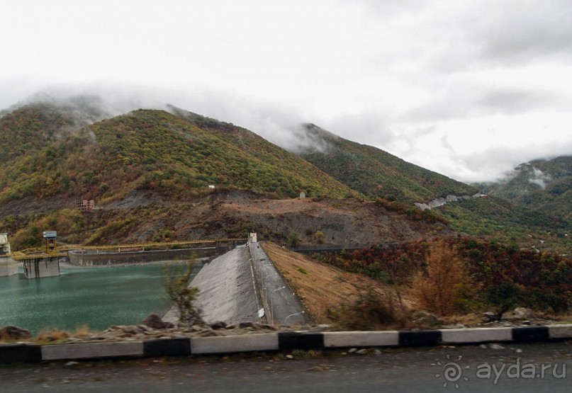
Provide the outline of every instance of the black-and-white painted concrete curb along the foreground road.
<path id="1" fill-rule="evenodd" d="M 530 343 L 572 339 L 572 324 L 516 328 L 420 331 L 292 332 L 244 336 L 160 338 L 150 341 L 72 343 L 52 346 L 0 344 L 0 364 L 50 360 L 188 356 L 254 351 L 324 350 L 352 347 L 438 346 L 487 342 Z"/>

